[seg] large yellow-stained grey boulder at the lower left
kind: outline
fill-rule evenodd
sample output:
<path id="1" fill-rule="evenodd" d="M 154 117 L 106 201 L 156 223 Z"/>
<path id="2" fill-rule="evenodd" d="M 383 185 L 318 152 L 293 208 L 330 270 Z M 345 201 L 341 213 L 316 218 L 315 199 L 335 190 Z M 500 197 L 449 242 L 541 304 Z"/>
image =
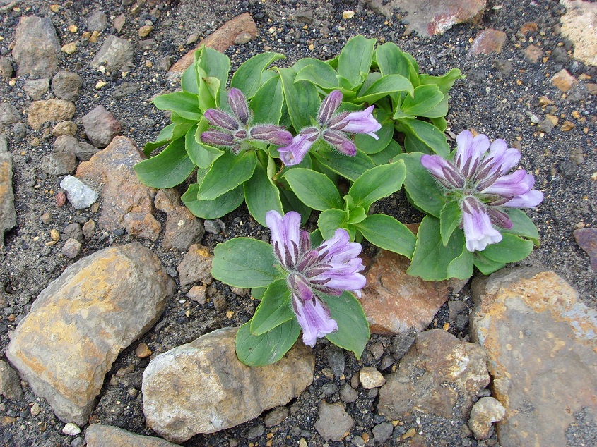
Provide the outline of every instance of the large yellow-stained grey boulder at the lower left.
<path id="1" fill-rule="evenodd" d="M 141 244 L 100 250 L 42 290 L 6 356 L 60 420 L 86 424 L 112 362 L 153 326 L 174 290 Z"/>

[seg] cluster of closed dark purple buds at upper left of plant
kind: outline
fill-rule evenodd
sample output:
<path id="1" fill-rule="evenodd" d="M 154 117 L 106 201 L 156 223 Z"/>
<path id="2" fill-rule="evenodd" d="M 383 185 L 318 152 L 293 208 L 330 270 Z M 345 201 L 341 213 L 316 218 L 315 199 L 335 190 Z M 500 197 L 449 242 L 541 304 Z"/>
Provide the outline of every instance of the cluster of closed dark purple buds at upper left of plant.
<path id="1" fill-rule="evenodd" d="M 252 125 L 253 116 L 244 94 L 231 88 L 228 92 L 230 116 L 221 109 L 208 109 L 203 116 L 215 129 L 201 133 L 201 141 L 206 145 L 230 147 L 230 151 L 238 154 L 241 149 L 249 147 L 247 142 L 261 140 L 271 145 L 283 146 L 292 142 L 292 135 L 281 125 Z"/>

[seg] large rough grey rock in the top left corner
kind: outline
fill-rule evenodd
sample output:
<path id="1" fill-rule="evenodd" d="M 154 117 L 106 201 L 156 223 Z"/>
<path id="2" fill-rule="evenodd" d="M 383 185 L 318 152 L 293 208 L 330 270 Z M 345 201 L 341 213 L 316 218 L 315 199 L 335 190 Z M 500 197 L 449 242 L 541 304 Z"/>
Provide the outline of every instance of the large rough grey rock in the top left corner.
<path id="1" fill-rule="evenodd" d="M 20 18 L 13 48 L 19 76 L 52 78 L 60 57 L 60 44 L 52 20 L 36 16 Z"/>

